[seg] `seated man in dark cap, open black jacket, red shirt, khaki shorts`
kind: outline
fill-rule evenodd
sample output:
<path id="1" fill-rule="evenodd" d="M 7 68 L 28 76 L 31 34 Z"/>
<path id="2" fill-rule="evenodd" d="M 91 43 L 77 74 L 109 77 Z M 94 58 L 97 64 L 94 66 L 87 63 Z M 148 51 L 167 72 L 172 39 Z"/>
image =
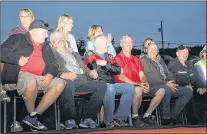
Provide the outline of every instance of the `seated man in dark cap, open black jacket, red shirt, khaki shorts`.
<path id="1" fill-rule="evenodd" d="M 4 63 L 1 82 L 8 87 L 16 84 L 13 88 L 22 95 L 28 112 L 23 122 L 37 130 L 47 129 L 38 121 L 38 116 L 53 104 L 65 87 L 64 80 L 56 77 L 58 65 L 45 42 L 48 30 L 51 30 L 48 24 L 35 20 L 25 35 L 13 34 L 1 45 L 1 62 Z M 39 91 L 45 94 L 35 108 Z"/>

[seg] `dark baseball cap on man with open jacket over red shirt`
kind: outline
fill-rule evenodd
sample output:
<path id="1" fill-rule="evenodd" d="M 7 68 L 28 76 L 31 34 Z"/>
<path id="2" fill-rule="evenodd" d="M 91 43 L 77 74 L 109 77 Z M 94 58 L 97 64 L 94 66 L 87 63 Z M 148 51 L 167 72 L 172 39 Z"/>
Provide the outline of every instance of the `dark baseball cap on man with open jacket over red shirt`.
<path id="1" fill-rule="evenodd" d="M 34 20 L 29 26 L 29 30 L 34 28 L 42 28 L 48 31 L 52 31 L 53 29 L 49 27 L 48 23 L 45 23 L 43 20 Z"/>

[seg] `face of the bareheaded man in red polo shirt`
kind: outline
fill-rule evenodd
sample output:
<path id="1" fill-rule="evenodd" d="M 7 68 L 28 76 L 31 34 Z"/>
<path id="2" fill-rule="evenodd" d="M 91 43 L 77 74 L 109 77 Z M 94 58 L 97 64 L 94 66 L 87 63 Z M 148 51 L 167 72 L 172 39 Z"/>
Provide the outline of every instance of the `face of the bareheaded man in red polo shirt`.
<path id="1" fill-rule="evenodd" d="M 128 53 L 131 53 L 131 50 L 133 48 L 133 40 L 131 37 L 126 37 L 123 40 L 122 43 L 122 50 Z"/>

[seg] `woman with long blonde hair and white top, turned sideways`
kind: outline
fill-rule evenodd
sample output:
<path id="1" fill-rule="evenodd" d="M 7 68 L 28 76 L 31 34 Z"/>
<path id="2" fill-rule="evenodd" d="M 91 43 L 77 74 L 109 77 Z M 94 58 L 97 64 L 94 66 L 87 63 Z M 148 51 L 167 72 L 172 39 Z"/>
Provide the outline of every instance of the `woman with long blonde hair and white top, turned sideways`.
<path id="1" fill-rule="evenodd" d="M 73 51 L 78 52 L 78 47 L 74 36 L 71 34 L 73 28 L 73 17 L 67 14 L 62 14 L 58 19 L 56 31 L 61 32 Z"/>

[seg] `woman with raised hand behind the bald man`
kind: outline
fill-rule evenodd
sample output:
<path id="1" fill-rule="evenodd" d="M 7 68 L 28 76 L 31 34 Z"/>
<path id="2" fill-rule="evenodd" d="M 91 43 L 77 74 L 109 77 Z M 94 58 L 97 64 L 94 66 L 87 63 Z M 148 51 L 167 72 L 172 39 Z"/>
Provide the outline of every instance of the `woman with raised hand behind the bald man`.
<path id="1" fill-rule="evenodd" d="M 90 51 L 90 50 L 94 50 L 94 46 L 93 46 L 93 40 L 95 37 L 104 34 L 103 33 L 103 28 L 100 25 L 92 25 L 89 30 L 88 30 L 88 42 L 87 42 L 87 46 L 86 46 L 86 52 Z M 116 51 L 111 43 L 112 41 L 112 36 L 111 34 L 108 34 L 108 53 L 111 54 L 113 57 L 116 56 Z"/>

